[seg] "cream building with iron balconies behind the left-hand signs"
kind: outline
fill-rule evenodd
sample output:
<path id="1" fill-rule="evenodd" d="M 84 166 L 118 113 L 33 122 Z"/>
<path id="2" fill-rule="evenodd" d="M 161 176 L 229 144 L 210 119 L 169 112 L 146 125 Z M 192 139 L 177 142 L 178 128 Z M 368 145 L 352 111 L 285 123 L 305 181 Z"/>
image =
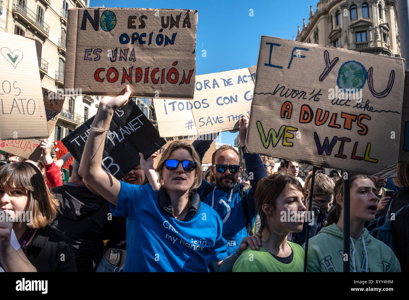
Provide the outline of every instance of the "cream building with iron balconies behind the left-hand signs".
<path id="1" fill-rule="evenodd" d="M 50 91 L 64 87 L 67 10 L 89 7 L 90 0 L 0 0 L 0 31 L 35 41 L 41 86 Z M 77 91 L 76 91 L 77 92 Z M 61 140 L 97 113 L 101 96 L 80 93 L 65 96 L 63 109 L 50 139 Z M 153 101 L 134 98 L 156 125 Z M 157 126 L 156 126 L 157 127 Z"/>

